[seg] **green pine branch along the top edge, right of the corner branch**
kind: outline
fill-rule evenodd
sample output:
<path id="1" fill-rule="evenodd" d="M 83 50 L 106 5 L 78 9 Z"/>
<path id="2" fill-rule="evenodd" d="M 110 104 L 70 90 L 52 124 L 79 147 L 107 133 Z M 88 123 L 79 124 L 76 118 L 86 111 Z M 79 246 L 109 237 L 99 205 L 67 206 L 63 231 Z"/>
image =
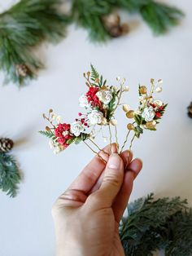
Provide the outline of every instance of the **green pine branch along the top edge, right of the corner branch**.
<path id="1" fill-rule="evenodd" d="M 91 41 L 105 42 L 111 35 L 103 17 L 116 8 L 139 13 L 156 34 L 167 32 L 169 27 L 178 24 L 183 16 L 176 7 L 169 7 L 153 0 L 73 0 L 73 19 L 88 30 Z"/>

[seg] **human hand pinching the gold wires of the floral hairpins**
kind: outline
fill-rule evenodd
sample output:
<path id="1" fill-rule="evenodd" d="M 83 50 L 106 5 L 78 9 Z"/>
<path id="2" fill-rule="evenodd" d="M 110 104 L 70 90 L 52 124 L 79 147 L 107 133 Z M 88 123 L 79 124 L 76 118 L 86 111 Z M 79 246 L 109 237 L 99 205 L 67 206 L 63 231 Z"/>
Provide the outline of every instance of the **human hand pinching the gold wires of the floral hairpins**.
<path id="1" fill-rule="evenodd" d="M 55 202 L 57 256 L 123 256 L 119 223 L 142 161 L 132 152 L 116 153 L 116 144 L 99 152 Z M 126 166 L 126 170 L 125 167 Z"/>

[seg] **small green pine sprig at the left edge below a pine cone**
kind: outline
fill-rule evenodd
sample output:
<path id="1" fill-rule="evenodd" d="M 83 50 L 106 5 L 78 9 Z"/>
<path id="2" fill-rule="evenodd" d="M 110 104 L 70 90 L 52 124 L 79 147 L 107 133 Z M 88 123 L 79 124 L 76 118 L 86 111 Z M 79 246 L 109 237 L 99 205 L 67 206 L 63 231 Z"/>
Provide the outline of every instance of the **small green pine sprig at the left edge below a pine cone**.
<path id="1" fill-rule="evenodd" d="M 2 192 L 15 197 L 20 180 L 20 172 L 14 157 L 7 153 L 0 153 L 0 189 Z"/>

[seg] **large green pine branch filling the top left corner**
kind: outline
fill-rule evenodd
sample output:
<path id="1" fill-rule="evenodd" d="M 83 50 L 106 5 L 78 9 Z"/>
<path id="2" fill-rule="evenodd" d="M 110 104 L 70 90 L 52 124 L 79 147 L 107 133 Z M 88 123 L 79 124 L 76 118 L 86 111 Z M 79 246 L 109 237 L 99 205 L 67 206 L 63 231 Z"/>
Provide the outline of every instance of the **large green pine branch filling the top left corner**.
<path id="1" fill-rule="evenodd" d="M 59 0 L 21 0 L 0 15 L 0 66 L 5 83 L 23 86 L 43 64 L 34 49 L 43 40 L 59 42 L 69 22 L 57 8 Z"/>

